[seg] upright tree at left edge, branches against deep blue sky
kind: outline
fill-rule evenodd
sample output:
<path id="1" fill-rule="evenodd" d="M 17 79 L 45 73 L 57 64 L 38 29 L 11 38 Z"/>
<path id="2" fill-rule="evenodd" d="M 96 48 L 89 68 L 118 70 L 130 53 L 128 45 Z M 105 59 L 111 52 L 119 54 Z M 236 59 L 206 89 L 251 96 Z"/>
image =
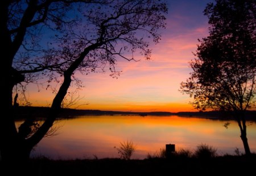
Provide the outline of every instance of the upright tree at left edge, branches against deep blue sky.
<path id="1" fill-rule="evenodd" d="M 42 59 L 35 59 L 35 55 L 42 53 L 39 41 L 43 35 L 58 32 L 63 24 L 73 23 L 77 19 L 68 18 L 67 14 L 80 3 L 84 6 L 90 3 L 110 3 L 111 1 L 56 1 L 56 0 L 11 0 L 0 2 L 0 37 L 3 42 L 0 50 L 2 53 L 1 93 L 2 117 L 0 118 L 0 151 L 2 160 L 12 161 L 19 158 L 19 152 L 24 150 L 19 147 L 20 139 L 14 123 L 13 88 L 14 85 L 28 80 L 36 79 L 36 75 L 26 73 L 43 71 L 51 66 Z M 42 40 L 41 40 L 42 39 Z M 28 62 L 30 61 L 30 62 Z M 36 62 L 37 61 L 37 62 Z M 29 64 L 31 63 L 31 64 Z M 15 66 L 27 66 L 25 69 Z M 26 74 L 26 75 L 24 75 Z M 18 146 L 18 147 L 17 147 Z"/>

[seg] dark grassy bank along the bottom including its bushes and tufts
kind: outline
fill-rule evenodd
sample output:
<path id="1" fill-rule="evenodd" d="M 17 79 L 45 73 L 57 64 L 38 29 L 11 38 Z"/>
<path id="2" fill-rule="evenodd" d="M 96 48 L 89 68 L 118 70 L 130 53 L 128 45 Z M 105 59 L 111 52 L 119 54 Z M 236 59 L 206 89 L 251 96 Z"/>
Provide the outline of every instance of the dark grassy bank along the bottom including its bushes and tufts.
<path id="1" fill-rule="evenodd" d="M 120 143 L 122 152 L 128 157 L 51 160 L 46 157 L 31 158 L 22 163 L 16 174 L 28 176 L 49 175 L 249 175 L 256 166 L 256 153 L 250 157 L 235 151 L 234 155 L 217 156 L 217 149 L 206 145 L 197 145 L 194 152 L 180 149 L 166 157 L 165 149 L 148 154 L 144 160 L 133 160 L 131 155 L 135 146 L 131 141 Z M 119 151 L 118 150 L 118 151 Z M 133 151 L 133 152 L 129 152 Z M 0 170 L 6 169 L 0 161 Z M 9 170 L 10 171 L 10 170 Z M 15 175 L 16 175 L 15 174 Z M 8 169 L 7 169 L 7 175 Z"/>

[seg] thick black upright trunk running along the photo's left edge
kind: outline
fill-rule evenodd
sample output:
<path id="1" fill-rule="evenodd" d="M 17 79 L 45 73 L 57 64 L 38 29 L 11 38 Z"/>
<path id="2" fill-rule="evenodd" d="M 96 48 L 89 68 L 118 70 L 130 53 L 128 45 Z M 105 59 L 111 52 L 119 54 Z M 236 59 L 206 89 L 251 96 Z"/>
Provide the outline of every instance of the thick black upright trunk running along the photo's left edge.
<path id="1" fill-rule="evenodd" d="M 4 45 L 1 46 L 1 69 L 0 69 L 0 92 L 2 105 L 0 106 L 1 113 L 3 114 L 0 118 L 0 151 L 2 161 L 11 160 L 15 158 L 16 139 L 17 131 L 13 117 L 13 105 L 12 105 L 12 94 L 13 94 L 13 69 L 11 57 L 11 36 L 7 28 L 8 19 L 8 5 L 9 2 L 1 1 L 1 18 L 0 18 L 0 37 Z M 3 55 L 5 53 L 5 55 Z"/>

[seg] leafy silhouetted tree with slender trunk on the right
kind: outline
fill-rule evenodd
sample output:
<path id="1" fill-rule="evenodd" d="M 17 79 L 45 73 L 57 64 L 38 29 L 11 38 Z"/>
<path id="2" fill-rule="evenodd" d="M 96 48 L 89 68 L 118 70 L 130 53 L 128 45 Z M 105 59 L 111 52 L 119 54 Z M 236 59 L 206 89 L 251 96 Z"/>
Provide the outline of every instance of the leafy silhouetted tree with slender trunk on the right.
<path id="1" fill-rule="evenodd" d="M 209 18 L 209 36 L 199 40 L 190 63 L 193 71 L 180 91 L 193 97 L 196 109 L 231 111 L 245 153 L 250 154 L 245 111 L 255 105 L 256 2 L 217 0 L 204 14 Z"/>

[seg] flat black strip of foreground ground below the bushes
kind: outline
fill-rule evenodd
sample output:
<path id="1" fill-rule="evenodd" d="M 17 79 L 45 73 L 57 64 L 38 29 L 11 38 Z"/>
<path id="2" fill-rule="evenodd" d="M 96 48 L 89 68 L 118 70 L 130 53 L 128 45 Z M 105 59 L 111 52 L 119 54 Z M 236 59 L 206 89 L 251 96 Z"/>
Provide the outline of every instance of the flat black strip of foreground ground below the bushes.
<path id="1" fill-rule="evenodd" d="M 9 173 L 1 175 L 10 175 Z M 216 158 L 150 158 L 121 160 L 31 159 L 23 168 L 11 168 L 20 175 L 251 175 L 255 174 L 256 155 L 222 156 Z M 18 170 L 17 170 L 18 169 Z M 10 171 L 11 171 L 10 170 Z M 20 171 L 20 172 L 19 172 Z"/>

